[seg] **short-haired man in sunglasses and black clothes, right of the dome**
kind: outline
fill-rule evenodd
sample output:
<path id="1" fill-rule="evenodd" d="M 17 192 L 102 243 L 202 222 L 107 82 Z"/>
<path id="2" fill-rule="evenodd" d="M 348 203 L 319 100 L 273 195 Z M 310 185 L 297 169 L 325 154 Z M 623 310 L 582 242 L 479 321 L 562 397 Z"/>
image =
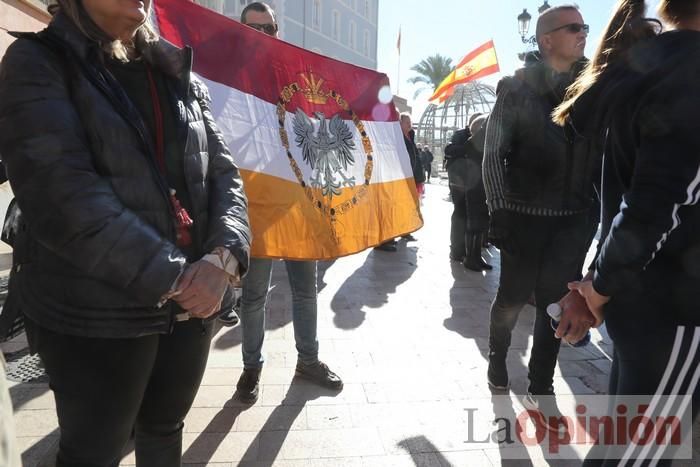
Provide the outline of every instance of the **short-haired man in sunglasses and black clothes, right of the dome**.
<path id="1" fill-rule="evenodd" d="M 501 80 L 489 117 L 483 180 L 491 239 L 501 250 L 498 292 L 491 306 L 488 382 L 508 387 L 506 355 L 518 315 L 534 292 L 537 305 L 530 385 L 523 401 L 536 409 L 554 394 L 560 341 L 548 304 L 580 277 L 595 206 L 595 144 L 552 122 L 551 112 L 585 65 L 588 25 L 573 5 L 551 8 L 537 21 L 539 60 Z"/>

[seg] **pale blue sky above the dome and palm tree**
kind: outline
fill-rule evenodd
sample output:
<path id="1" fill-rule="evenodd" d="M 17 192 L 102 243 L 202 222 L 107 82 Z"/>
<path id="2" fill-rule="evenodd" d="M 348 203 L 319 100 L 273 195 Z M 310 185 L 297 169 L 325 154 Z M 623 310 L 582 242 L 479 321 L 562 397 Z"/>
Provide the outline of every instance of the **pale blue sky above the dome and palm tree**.
<path id="1" fill-rule="evenodd" d="M 552 6 L 568 1 L 550 0 Z M 584 21 L 591 26 L 586 45 L 586 56 L 595 51 L 598 38 L 610 16 L 616 0 L 577 0 Z M 652 5 L 656 1 L 649 2 Z M 413 118 L 417 120 L 427 105 L 429 91 L 421 93 L 415 102 L 417 86 L 407 82 L 415 73 L 410 68 L 422 59 L 440 53 L 456 64 L 464 55 L 493 39 L 501 67 L 501 74 L 484 79 L 488 84 L 498 82 L 500 76 L 518 68 L 518 52 L 525 45 L 518 34 L 517 16 L 527 8 L 533 16 L 530 33 L 534 32 L 537 8 L 542 0 L 379 0 L 379 32 L 377 44 L 378 70 L 391 80 L 394 93 L 399 87 L 401 97 L 413 104 Z M 433 6 L 435 5 L 435 6 Z M 439 5 L 439 6 L 437 6 Z M 650 8 L 649 16 L 654 13 Z M 400 82 L 396 38 L 401 26 Z M 398 85 L 398 86 L 397 86 Z"/>

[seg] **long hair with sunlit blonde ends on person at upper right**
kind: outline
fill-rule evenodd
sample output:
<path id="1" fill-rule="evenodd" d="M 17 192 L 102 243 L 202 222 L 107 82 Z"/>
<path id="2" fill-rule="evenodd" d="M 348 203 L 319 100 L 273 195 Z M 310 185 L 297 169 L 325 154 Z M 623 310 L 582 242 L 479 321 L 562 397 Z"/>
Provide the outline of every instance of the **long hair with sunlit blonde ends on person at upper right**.
<path id="1" fill-rule="evenodd" d="M 700 0 L 662 0 L 662 5 L 690 2 L 697 4 Z M 645 14 L 644 0 L 618 0 L 593 59 L 569 87 L 564 102 L 554 110 L 552 117 L 556 123 L 566 122 L 579 96 L 598 82 L 612 64 L 626 57 L 634 44 L 660 32 L 658 22 L 646 19 Z"/>

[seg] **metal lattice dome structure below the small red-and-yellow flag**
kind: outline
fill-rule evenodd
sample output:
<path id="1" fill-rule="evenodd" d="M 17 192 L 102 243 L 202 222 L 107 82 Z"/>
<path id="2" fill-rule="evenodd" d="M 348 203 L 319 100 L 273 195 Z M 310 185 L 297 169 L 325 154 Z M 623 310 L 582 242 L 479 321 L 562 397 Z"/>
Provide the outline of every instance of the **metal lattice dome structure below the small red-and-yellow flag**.
<path id="1" fill-rule="evenodd" d="M 474 113 L 490 113 L 496 102 L 493 86 L 478 81 L 460 84 L 445 102 L 426 107 L 416 128 L 416 144 L 428 145 L 436 158 L 442 159 L 443 149 L 452 133 L 467 126 Z"/>

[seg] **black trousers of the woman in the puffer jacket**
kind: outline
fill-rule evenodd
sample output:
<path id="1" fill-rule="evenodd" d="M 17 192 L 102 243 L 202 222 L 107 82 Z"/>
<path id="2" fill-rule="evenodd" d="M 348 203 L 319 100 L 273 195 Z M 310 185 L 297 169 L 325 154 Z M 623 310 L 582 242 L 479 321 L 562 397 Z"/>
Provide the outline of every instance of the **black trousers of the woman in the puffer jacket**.
<path id="1" fill-rule="evenodd" d="M 182 428 L 202 380 L 212 322 L 131 339 L 67 336 L 27 320 L 56 398 L 57 467 L 118 466 L 132 430 L 136 464 L 179 466 Z"/>

